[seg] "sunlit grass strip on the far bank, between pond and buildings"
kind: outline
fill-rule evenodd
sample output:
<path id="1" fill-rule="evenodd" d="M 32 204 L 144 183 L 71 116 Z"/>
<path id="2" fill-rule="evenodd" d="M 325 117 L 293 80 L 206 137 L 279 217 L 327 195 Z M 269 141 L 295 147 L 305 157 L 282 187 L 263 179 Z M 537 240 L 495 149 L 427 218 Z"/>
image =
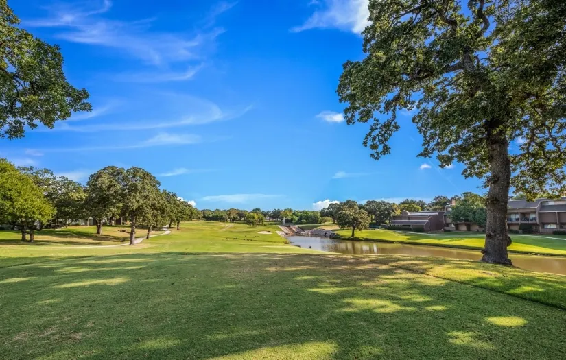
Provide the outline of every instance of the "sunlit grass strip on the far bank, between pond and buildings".
<path id="1" fill-rule="evenodd" d="M 334 227 L 344 239 L 350 238 L 352 230 L 339 230 Z M 564 235 L 510 235 L 513 243 L 508 248 L 513 252 L 526 252 L 536 254 L 566 255 L 566 236 Z M 359 240 L 380 240 L 412 244 L 432 244 L 443 246 L 456 246 L 459 248 L 484 248 L 484 234 L 458 232 L 443 234 L 426 234 L 416 232 L 402 232 L 391 230 L 363 230 L 356 231 L 355 238 Z"/>

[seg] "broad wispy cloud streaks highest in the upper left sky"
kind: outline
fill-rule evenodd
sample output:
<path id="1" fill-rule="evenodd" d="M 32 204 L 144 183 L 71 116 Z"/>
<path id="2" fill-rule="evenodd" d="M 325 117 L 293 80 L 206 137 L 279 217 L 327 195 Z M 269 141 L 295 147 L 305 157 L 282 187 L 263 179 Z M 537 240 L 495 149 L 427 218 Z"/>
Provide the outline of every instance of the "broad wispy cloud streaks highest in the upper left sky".
<path id="1" fill-rule="evenodd" d="M 27 20 L 23 25 L 64 29 L 55 36 L 73 43 L 117 49 L 154 65 L 200 59 L 224 32 L 220 28 L 191 35 L 154 32 L 151 25 L 155 19 L 106 19 L 104 14 L 112 8 L 111 1 L 104 0 L 97 8 L 92 3 L 54 3 L 47 7 L 47 18 Z"/>

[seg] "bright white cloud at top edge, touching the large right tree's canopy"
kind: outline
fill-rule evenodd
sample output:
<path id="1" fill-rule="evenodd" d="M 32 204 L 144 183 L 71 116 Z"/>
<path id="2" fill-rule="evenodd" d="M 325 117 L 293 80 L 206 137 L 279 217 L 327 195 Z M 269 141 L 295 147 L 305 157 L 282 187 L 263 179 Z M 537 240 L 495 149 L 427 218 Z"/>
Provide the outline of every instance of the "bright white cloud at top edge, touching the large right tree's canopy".
<path id="1" fill-rule="evenodd" d="M 293 27 L 292 32 L 316 28 L 336 28 L 360 34 L 367 25 L 368 0 L 325 0 L 321 7 L 303 23 Z"/>

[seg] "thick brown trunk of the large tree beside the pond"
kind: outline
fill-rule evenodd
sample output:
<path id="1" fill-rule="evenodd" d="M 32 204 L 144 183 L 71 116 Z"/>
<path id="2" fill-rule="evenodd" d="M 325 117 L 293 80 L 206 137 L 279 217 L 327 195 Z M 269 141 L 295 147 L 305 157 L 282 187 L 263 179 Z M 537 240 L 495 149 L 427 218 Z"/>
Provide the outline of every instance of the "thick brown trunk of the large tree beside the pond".
<path id="1" fill-rule="evenodd" d="M 491 119 L 486 122 L 486 142 L 489 154 L 487 194 L 486 241 L 482 253 L 482 261 L 486 263 L 512 265 L 507 247 L 510 237 L 507 234 L 507 200 L 511 182 L 511 163 L 509 159 L 509 143 L 505 134 L 496 132 L 502 123 Z"/>

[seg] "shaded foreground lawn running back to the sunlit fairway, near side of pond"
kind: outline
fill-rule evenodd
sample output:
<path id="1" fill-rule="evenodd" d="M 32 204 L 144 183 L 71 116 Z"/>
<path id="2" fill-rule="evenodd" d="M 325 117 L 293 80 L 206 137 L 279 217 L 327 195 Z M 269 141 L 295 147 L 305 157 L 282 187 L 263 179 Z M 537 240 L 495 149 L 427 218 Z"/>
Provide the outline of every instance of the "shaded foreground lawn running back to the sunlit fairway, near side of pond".
<path id="1" fill-rule="evenodd" d="M 566 357 L 565 276 L 320 254 L 258 234 L 275 229 L 202 222 L 132 247 L 0 245 L 0 359 Z"/>

